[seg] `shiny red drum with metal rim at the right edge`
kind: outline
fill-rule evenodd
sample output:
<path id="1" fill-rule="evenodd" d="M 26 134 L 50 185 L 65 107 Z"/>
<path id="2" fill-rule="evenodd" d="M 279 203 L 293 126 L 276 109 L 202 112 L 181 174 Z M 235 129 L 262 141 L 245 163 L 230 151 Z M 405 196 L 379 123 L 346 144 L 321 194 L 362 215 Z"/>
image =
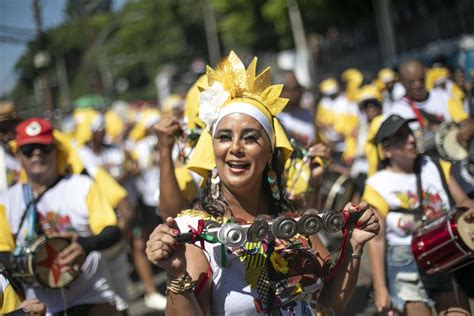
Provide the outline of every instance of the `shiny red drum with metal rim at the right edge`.
<path id="1" fill-rule="evenodd" d="M 428 274 L 461 268 L 474 259 L 474 241 L 463 209 L 427 223 L 413 235 L 412 250 L 418 266 Z"/>

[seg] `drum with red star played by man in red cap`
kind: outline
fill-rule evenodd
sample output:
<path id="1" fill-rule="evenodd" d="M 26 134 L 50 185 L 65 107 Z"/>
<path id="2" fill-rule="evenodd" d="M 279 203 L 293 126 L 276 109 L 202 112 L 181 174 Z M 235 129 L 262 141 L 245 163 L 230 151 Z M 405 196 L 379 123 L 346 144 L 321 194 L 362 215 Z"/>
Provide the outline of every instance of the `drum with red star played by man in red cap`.
<path id="1" fill-rule="evenodd" d="M 67 238 L 46 236 L 25 241 L 20 251 L 13 255 L 12 276 L 24 283 L 48 288 L 69 285 L 79 272 L 61 271 L 56 258 L 70 243 Z"/>

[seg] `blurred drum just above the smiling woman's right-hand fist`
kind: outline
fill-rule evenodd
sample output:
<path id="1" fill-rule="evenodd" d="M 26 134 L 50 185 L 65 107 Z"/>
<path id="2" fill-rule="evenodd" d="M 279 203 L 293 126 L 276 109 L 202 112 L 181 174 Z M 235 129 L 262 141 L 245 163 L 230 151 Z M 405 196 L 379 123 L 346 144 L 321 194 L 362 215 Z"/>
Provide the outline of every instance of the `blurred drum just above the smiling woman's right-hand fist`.
<path id="1" fill-rule="evenodd" d="M 351 178 L 336 172 L 328 172 L 321 183 L 323 208 L 340 211 L 352 200 L 355 184 Z"/>

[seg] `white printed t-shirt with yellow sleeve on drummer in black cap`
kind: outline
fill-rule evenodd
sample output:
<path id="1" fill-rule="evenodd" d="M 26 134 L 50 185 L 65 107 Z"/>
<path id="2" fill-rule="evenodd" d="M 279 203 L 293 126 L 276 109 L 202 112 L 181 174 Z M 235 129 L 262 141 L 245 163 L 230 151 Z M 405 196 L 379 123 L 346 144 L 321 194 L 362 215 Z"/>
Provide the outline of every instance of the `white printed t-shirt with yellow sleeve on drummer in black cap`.
<path id="1" fill-rule="evenodd" d="M 445 162 L 444 167 L 447 167 Z M 445 177 L 449 172 L 444 171 Z M 448 181 L 448 179 L 447 179 Z M 441 175 L 428 156 L 422 157 L 421 186 L 425 215 L 429 218 L 449 211 L 449 199 Z M 414 215 L 391 210 L 417 209 L 419 198 L 414 173 L 396 173 L 387 169 L 376 172 L 367 180 L 363 200 L 385 216 L 385 237 L 390 245 L 409 245 L 415 228 Z"/>

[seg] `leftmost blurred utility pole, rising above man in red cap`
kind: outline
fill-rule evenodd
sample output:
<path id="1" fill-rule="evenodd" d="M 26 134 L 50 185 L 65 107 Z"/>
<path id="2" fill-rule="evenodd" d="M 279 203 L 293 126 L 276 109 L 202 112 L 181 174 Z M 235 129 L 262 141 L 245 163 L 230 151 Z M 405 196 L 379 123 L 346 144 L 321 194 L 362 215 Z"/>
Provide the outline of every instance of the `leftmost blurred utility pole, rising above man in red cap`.
<path id="1" fill-rule="evenodd" d="M 44 106 L 46 107 L 47 111 L 49 111 L 50 115 L 52 115 L 54 103 L 48 76 L 48 66 L 51 62 L 51 58 L 46 51 L 47 39 L 46 34 L 43 32 L 42 28 L 41 7 L 39 0 L 33 0 L 33 17 L 35 20 L 36 33 L 38 36 L 38 52 L 34 57 L 34 64 L 35 67 L 40 70 L 40 83 L 43 90 Z"/>

